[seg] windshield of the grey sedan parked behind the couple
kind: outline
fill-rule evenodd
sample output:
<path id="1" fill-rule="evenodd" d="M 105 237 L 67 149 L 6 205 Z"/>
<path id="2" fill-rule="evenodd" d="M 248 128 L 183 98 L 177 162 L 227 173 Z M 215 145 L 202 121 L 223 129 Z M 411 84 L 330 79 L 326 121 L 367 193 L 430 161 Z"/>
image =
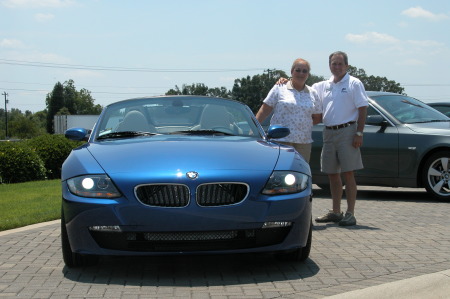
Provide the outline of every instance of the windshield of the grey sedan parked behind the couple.
<path id="1" fill-rule="evenodd" d="M 390 115 L 404 124 L 450 121 L 448 117 L 414 98 L 403 95 L 371 97 Z"/>

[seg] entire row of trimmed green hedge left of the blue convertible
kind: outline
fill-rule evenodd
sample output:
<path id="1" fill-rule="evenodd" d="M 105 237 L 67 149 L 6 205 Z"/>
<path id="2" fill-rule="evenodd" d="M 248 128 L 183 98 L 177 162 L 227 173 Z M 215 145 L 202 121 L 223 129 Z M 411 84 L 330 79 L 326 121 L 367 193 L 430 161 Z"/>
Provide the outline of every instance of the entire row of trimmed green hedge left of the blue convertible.
<path id="1" fill-rule="evenodd" d="M 41 135 L 30 140 L 0 142 L 0 182 L 20 183 L 61 177 L 61 167 L 75 142 L 63 135 Z"/>

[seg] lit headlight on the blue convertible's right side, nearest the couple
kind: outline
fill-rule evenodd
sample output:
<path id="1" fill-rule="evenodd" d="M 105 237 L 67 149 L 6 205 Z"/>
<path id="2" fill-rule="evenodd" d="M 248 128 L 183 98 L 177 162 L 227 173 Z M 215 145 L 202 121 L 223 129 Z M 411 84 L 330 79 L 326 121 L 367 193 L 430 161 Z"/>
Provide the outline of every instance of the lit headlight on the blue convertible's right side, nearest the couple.
<path id="1" fill-rule="evenodd" d="M 274 171 L 262 193 L 280 195 L 301 192 L 308 187 L 308 179 L 306 174 L 300 172 Z"/>

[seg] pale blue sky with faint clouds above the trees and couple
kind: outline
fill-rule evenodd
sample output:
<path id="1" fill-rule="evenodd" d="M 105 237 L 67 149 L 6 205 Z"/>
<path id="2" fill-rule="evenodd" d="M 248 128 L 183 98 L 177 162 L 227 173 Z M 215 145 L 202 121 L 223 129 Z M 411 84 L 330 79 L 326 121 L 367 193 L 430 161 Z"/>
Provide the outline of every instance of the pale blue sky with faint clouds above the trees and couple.
<path id="1" fill-rule="evenodd" d="M 0 0 L 0 107 L 38 112 L 57 82 L 95 104 L 163 95 L 344 51 L 424 102 L 450 101 L 448 0 Z"/>

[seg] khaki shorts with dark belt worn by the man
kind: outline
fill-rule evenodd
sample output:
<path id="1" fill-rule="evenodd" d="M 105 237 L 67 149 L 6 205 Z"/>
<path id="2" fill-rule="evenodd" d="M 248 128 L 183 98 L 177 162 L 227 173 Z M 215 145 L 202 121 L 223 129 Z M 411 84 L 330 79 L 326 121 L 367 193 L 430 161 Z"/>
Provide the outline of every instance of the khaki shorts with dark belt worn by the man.
<path id="1" fill-rule="evenodd" d="M 359 148 L 354 148 L 356 124 L 338 130 L 323 129 L 320 165 L 322 172 L 333 174 L 364 168 Z"/>

